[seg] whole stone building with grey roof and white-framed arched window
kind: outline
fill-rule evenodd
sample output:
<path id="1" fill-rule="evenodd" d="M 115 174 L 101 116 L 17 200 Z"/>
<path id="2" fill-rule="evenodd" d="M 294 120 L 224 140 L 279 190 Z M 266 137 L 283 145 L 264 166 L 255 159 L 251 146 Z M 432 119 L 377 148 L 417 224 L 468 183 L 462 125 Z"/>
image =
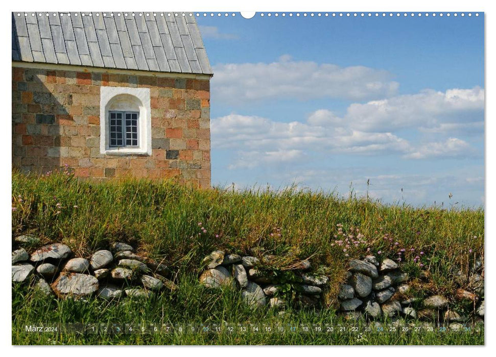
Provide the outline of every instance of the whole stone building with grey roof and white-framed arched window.
<path id="1" fill-rule="evenodd" d="M 210 187 L 210 67 L 195 17 L 12 13 L 12 165 Z"/>

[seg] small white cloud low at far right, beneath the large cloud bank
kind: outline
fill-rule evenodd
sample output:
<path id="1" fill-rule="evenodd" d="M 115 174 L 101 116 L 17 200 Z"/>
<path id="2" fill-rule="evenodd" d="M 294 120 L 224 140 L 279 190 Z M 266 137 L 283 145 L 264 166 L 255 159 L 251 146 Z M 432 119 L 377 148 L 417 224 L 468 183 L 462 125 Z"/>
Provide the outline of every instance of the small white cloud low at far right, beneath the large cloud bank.
<path id="1" fill-rule="evenodd" d="M 416 151 L 405 155 L 407 159 L 427 159 L 427 158 L 453 158 L 474 155 L 474 150 L 470 145 L 458 138 L 449 138 L 443 142 L 433 142 L 420 145 Z"/>

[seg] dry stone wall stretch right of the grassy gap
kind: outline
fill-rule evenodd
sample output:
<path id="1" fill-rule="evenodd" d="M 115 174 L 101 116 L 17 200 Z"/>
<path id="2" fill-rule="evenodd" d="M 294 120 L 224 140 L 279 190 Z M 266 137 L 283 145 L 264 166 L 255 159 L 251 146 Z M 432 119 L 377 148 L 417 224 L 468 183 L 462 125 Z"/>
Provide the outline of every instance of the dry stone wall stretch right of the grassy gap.
<path id="1" fill-rule="evenodd" d="M 332 307 L 351 319 L 419 319 L 453 325 L 453 328 L 459 328 L 457 324 L 460 323 L 484 322 L 481 259 L 473 262 L 467 277 L 458 273 L 460 286 L 454 291 L 444 295 L 430 293 L 428 296 L 424 291 L 423 297 L 419 297 L 419 292 L 412 287 L 414 280 L 391 259 L 382 262 L 374 256 L 366 256 L 364 260 L 352 259 L 348 263 L 346 281 L 340 287 L 337 303 L 326 301 L 325 291 L 332 281 L 331 277 L 312 273 L 315 269 L 310 261 L 298 262 L 284 274 L 261 264 L 277 259 L 264 256 L 261 262 L 255 257 L 241 257 L 216 250 L 203 260 L 205 270 L 200 276 L 200 283 L 211 289 L 223 286 L 241 289 L 247 303 L 260 307 L 284 308 L 290 304 L 293 307 L 320 309 Z M 291 290 L 293 293 L 288 294 Z M 469 311 L 457 309 L 457 305 L 464 303 L 469 305 Z"/>

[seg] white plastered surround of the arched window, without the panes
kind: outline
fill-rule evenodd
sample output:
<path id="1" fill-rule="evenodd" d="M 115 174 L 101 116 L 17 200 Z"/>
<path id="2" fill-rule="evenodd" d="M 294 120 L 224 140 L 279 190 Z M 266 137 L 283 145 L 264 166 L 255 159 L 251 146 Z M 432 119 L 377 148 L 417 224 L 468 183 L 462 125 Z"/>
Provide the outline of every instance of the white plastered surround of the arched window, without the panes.
<path id="1" fill-rule="evenodd" d="M 109 112 L 115 99 L 130 95 L 138 104 L 138 146 L 110 146 Z M 132 111 L 135 107 L 115 111 Z M 100 87 L 100 154 L 105 155 L 152 155 L 152 116 L 150 109 L 150 88 Z"/>

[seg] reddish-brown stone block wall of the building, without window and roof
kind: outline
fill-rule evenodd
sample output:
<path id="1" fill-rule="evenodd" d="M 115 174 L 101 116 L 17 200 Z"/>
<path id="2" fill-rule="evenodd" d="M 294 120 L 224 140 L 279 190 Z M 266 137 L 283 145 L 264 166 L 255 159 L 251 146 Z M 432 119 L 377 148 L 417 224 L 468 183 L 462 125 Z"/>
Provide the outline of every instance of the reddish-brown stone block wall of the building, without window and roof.
<path id="1" fill-rule="evenodd" d="M 100 153 L 100 88 L 151 91 L 151 156 Z M 209 81 L 12 68 L 12 164 L 78 177 L 177 177 L 210 187 Z"/>

